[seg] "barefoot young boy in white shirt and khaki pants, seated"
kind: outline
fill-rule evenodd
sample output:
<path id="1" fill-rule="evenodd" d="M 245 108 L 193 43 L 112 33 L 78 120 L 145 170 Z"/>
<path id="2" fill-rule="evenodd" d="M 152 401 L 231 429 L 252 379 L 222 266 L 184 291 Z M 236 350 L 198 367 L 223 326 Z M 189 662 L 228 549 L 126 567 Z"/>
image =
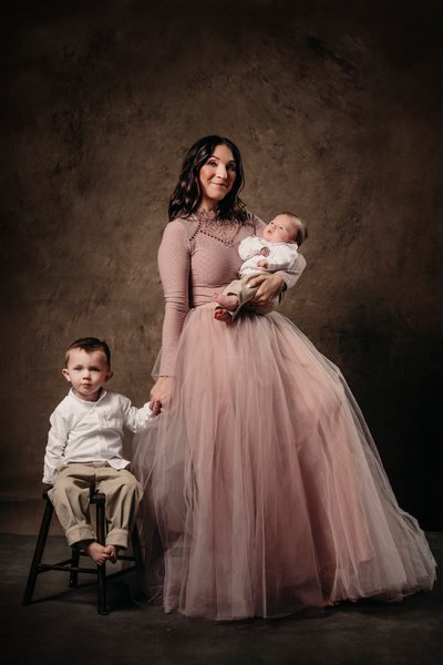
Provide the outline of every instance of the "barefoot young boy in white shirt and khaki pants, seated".
<path id="1" fill-rule="evenodd" d="M 43 483 L 71 546 L 96 564 L 115 563 L 127 548 L 142 487 L 123 459 L 123 428 L 138 432 L 159 413 L 158 405 L 136 409 L 127 397 L 104 386 L 113 376 L 107 344 L 94 337 L 68 348 L 62 374 L 71 390 L 50 418 Z M 90 490 L 106 495 L 106 544 L 96 541 L 89 512 Z"/>

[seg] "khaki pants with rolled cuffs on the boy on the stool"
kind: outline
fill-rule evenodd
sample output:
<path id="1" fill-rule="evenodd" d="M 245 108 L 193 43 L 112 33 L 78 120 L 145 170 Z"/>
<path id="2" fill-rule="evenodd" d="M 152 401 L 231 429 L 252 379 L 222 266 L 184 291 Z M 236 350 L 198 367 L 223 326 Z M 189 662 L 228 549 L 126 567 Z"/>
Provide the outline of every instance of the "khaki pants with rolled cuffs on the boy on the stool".
<path id="1" fill-rule="evenodd" d="M 62 467 L 48 492 L 68 542 L 96 541 L 90 519 L 90 490 L 106 495 L 106 545 L 127 548 L 143 490 L 126 469 L 107 462 L 84 462 Z"/>

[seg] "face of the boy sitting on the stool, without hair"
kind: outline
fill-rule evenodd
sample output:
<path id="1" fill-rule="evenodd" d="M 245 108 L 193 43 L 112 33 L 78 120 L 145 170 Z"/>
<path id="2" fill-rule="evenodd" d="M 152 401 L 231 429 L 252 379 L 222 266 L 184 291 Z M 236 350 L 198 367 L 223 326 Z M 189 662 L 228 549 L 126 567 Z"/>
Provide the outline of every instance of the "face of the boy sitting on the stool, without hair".
<path id="1" fill-rule="evenodd" d="M 96 401 L 100 389 L 112 377 L 106 356 L 99 349 L 91 352 L 72 349 L 62 374 L 66 381 L 72 383 L 76 397 L 85 401 Z"/>

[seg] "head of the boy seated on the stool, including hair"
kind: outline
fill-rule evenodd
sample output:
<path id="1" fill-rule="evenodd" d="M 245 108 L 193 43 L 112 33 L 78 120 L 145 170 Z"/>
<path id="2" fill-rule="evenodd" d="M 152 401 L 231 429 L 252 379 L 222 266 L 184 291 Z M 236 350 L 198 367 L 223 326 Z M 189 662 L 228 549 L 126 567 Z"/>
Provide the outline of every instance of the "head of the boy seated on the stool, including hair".
<path id="1" fill-rule="evenodd" d="M 76 339 L 66 349 L 62 372 L 76 397 L 96 401 L 112 377 L 110 347 L 95 337 Z"/>

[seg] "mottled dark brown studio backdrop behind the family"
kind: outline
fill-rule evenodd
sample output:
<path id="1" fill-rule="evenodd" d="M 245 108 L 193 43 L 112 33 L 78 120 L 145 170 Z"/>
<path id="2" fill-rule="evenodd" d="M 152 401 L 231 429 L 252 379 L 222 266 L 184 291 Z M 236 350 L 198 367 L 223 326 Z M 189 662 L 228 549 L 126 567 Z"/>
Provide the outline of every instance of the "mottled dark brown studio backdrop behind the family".
<path id="1" fill-rule="evenodd" d="M 402 507 L 442 528 L 442 1 L 8 4 L 0 529 L 35 530 L 71 340 L 105 337 L 112 388 L 146 399 L 168 195 L 209 133 L 239 145 L 249 209 L 308 222 L 285 311 L 343 370 Z"/>

